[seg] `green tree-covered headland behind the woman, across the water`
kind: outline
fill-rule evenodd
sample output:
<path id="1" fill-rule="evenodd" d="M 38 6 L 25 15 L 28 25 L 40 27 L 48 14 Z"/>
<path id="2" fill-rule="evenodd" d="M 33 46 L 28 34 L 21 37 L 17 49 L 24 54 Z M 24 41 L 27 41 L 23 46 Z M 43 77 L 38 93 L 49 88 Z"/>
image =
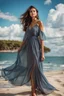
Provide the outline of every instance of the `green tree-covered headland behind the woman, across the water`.
<path id="1" fill-rule="evenodd" d="M 20 47 L 22 41 L 0 40 L 0 50 L 16 50 Z M 50 49 L 44 46 L 44 51 L 49 52 Z"/>

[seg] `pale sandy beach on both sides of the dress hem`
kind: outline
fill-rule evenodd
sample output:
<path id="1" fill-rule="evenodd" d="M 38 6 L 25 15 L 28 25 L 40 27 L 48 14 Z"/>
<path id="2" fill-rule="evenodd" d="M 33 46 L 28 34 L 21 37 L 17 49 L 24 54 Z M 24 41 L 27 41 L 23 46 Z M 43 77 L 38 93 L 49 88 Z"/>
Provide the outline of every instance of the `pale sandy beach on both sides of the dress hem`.
<path id="1" fill-rule="evenodd" d="M 64 96 L 64 71 L 45 72 L 44 75 L 58 89 L 47 96 Z M 31 96 L 31 86 L 13 86 L 0 77 L 0 96 Z M 45 95 L 37 91 L 37 96 Z"/>

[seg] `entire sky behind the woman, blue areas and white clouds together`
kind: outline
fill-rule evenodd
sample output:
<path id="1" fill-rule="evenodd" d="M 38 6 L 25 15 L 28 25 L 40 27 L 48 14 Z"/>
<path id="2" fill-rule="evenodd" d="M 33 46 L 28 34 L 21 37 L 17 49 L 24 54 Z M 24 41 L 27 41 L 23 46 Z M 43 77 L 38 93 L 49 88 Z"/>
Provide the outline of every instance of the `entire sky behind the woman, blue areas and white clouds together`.
<path id="1" fill-rule="evenodd" d="M 44 43 L 52 49 L 46 55 L 64 56 L 64 0 L 0 0 L 0 39 L 23 39 L 19 18 L 31 5 L 39 11 L 47 37 Z"/>

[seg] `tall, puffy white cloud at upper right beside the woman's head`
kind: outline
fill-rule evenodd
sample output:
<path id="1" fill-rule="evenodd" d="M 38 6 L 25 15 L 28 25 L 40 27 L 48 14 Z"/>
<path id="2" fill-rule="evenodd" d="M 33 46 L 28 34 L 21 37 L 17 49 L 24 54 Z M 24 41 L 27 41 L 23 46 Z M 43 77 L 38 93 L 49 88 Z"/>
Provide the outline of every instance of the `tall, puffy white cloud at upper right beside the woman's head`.
<path id="1" fill-rule="evenodd" d="M 50 9 L 46 31 L 48 37 L 61 37 L 64 36 L 64 4 L 58 4 L 56 9 Z"/>

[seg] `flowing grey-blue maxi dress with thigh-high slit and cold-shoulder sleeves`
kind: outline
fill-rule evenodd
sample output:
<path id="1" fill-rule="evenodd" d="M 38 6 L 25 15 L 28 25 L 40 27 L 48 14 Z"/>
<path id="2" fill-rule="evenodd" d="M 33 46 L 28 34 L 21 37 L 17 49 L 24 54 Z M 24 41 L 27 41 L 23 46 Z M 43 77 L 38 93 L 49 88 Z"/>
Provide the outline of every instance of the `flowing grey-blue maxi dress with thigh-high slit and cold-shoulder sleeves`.
<path id="1" fill-rule="evenodd" d="M 25 44 L 17 54 L 14 64 L 3 68 L 2 76 L 15 86 L 22 86 L 30 82 L 30 73 L 33 70 L 33 80 L 36 89 L 44 94 L 49 94 L 56 90 L 43 74 L 43 61 L 41 61 L 41 44 L 38 36 L 46 40 L 45 33 L 36 24 L 32 28 L 27 28 L 23 41 Z"/>

